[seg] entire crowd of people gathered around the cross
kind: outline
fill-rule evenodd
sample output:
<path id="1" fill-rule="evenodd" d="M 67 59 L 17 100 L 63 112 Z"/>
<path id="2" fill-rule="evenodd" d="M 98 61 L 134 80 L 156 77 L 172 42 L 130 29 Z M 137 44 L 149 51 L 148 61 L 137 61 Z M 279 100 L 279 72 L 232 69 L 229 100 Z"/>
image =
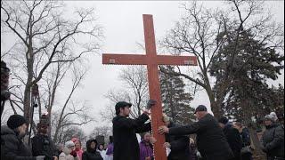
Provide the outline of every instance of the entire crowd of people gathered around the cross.
<path id="1" fill-rule="evenodd" d="M 1 61 L 1 72 L 6 68 Z M 7 70 L 8 69 L 8 70 Z M 9 74 L 8 74 L 9 75 Z M 1 76 L 2 73 L 1 73 Z M 1 81 L 5 78 L 1 78 Z M 1 115 L 4 100 L 8 100 L 7 83 L 1 84 Z M 129 117 L 131 103 L 118 101 L 116 116 L 112 120 L 113 135 L 109 144 L 104 145 L 96 139 L 81 140 L 72 138 L 57 146 L 51 140 L 49 126 L 40 121 L 37 134 L 28 147 L 23 142 L 27 134 L 28 122 L 24 116 L 12 115 L 1 126 L 1 159 L 4 160 L 153 160 L 153 144 L 156 139 L 151 132 L 165 136 L 161 148 L 167 152 L 167 160 L 253 160 L 252 139 L 248 128 L 240 122 L 231 122 L 226 117 L 216 119 L 208 113 L 208 108 L 199 105 L 195 109 L 197 122 L 188 125 L 175 124 L 163 114 L 163 125 L 151 131 L 151 108 L 156 100 L 149 100 L 141 116 Z M 264 117 L 265 132 L 260 146 L 267 160 L 284 160 L 284 115 L 272 112 Z M 137 139 L 137 133 L 142 136 Z M 193 140 L 190 135 L 196 134 Z M 84 148 L 85 147 L 85 148 Z"/>

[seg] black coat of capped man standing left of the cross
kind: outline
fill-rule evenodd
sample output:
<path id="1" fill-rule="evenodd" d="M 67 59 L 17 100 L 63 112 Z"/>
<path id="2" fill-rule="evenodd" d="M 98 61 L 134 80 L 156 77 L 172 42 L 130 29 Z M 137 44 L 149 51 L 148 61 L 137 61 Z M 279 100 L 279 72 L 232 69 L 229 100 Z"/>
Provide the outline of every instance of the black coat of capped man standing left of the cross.
<path id="1" fill-rule="evenodd" d="M 151 131 L 151 123 L 144 124 L 149 116 L 136 119 L 126 116 L 113 118 L 114 160 L 139 160 L 140 148 L 135 133 Z"/>

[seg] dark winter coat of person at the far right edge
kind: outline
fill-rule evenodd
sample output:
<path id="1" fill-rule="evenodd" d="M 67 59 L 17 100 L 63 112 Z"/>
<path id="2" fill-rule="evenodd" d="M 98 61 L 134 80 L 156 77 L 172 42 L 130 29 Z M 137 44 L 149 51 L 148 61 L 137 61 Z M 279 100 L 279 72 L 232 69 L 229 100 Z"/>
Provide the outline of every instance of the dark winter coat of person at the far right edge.
<path id="1" fill-rule="evenodd" d="M 266 126 L 260 142 L 267 157 L 284 157 L 284 128 L 282 125 Z"/>

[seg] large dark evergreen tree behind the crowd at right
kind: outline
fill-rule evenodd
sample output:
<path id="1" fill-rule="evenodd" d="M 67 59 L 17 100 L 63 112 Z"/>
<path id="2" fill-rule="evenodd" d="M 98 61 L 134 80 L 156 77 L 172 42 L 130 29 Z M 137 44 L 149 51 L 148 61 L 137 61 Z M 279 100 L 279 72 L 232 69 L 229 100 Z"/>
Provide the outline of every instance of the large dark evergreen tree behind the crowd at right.
<path id="1" fill-rule="evenodd" d="M 253 39 L 249 31 L 241 32 L 238 41 L 232 40 L 236 37 L 232 33 L 218 37 L 227 43 L 214 58 L 210 74 L 216 77 L 217 97 L 224 83 L 232 79 L 222 104 L 224 115 L 248 124 L 252 116 L 263 117 L 276 107 L 276 95 L 281 92 L 270 88 L 266 80 L 276 80 L 281 75 L 284 56 Z"/>

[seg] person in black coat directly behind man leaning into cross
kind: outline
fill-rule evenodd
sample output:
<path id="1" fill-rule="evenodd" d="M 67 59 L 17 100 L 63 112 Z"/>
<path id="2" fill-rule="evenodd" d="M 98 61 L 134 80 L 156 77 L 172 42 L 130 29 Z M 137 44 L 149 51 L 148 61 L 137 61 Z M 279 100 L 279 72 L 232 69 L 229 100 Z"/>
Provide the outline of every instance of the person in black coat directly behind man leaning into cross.
<path id="1" fill-rule="evenodd" d="M 240 155 L 240 149 L 242 148 L 242 140 L 240 137 L 240 132 L 236 128 L 232 127 L 232 124 L 229 123 L 228 118 L 226 117 L 221 117 L 219 120 L 219 125 L 223 129 L 224 135 L 226 140 L 228 141 L 232 153 L 234 157 L 232 160 L 240 160 L 241 155 Z"/>

